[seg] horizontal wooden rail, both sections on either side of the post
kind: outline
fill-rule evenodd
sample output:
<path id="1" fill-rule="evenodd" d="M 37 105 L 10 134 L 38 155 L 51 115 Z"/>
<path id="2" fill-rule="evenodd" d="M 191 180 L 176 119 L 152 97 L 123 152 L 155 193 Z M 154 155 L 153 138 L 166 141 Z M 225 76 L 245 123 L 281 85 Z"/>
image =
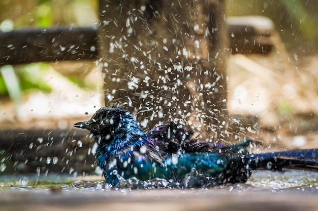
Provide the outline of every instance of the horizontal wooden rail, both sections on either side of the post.
<path id="1" fill-rule="evenodd" d="M 268 18 L 230 17 L 227 25 L 232 54 L 267 54 L 274 47 L 274 25 Z M 98 50 L 96 27 L 25 28 L 0 33 L 0 65 L 94 60 Z"/>

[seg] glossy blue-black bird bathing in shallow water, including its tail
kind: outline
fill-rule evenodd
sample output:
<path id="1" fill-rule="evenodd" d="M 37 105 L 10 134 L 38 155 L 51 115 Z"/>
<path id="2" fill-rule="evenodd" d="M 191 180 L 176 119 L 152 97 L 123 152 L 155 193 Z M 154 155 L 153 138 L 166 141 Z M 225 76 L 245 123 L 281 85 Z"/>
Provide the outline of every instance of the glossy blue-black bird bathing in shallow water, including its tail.
<path id="1" fill-rule="evenodd" d="M 252 139 L 231 145 L 192 138 L 194 132 L 170 122 L 144 132 L 121 107 L 105 106 L 88 121 L 76 122 L 97 143 L 96 160 L 106 183 L 121 179 L 163 179 L 183 187 L 245 183 L 253 170 L 318 170 L 318 149 L 251 153 Z"/>

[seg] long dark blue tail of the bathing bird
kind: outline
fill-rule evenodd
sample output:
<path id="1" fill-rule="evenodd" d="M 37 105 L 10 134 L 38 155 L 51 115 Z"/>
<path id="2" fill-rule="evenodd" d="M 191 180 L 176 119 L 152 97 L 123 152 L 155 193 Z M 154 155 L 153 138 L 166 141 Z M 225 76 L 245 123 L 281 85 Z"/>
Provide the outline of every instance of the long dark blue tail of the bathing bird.
<path id="1" fill-rule="evenodd" d="M 305 168 L 318 171 L 318 149 L 296 149 L 246 155 L 246 167 L 250 170 Z"/>

